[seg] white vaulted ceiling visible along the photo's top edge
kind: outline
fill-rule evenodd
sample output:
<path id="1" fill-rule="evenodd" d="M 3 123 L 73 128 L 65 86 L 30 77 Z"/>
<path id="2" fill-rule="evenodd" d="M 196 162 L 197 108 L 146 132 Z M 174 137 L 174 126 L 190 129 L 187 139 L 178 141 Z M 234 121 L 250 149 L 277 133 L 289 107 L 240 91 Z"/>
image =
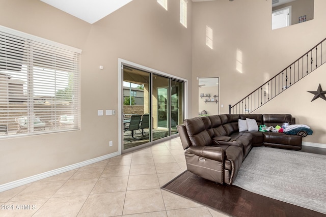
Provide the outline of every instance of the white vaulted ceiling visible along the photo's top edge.
<path id="1" fill-rule="evenodd" d="M 40 0 L 88 23 L 95 23 L 132 0 Z M 174 0 L 175 1 L 175 0 Z M 208 2 L 215 0 L 192 0 Z"/>

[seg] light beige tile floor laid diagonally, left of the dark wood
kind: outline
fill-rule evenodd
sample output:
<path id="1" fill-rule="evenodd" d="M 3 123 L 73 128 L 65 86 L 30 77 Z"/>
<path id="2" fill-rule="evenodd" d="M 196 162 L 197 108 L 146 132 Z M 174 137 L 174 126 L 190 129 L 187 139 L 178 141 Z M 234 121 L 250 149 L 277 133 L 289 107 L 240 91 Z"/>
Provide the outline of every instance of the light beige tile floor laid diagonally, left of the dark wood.
<path id="1" fill-rule="evenodd" d="M 0 216 L 227 216 L 160 189 L 185 169 L 174 138 L 2 192 Z"/>

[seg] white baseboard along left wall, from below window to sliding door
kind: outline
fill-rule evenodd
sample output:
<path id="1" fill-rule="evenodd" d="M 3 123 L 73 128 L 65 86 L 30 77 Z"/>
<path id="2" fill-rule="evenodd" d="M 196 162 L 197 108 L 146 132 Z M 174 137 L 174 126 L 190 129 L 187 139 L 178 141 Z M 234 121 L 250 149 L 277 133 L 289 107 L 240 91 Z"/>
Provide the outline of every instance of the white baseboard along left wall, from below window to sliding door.
<path id="1" fill-rule="evenodd" d="M 44 172 L 44 173 L 41 173 L 41 174 L 33 175 L 33 176 L 30 176 L 30 177 L 27 177 L 27 178 L 22 178 L 22 179 L 19 179 L 19 180 L 16 180 L 16 181 L 12 181 L 12 182 L 9 182 L 9 183 L 6 183 L 6 184 L 2 184 L 2 185 L 0 185 L 0 192 L 4 192 L 4 191 L 7 191 L 7 190 L 10 190 L 10 189 L 13 189 L 13 188 L 17 188 L 17 187 L 19 187 L 21 185 L 28 184 L 28 183 L 31 183 L 31 182 L 34 182 L 34 181 L 38 181 L 40 179 L 47 178 L 47 177 L 50 177 L 50 176 L 53 176 L 53 175 L 58 175 L 60 173 L 64 173 L 64 172 L 68 172 L 70 170 L 78 169 L 80 167 L 85 167 L 87 165 L 94 164 L 94 163 L 97 163 L 97 162 L 100 162 L 100 161 L 103 161 L 103 160 L 106 160 L 106 159 L 110 159 L 110 158 L 116 157 L 118 155 L 119 155 L 119 152 L 117 151 L 117 152 L 114 152 L 114 153 L 111 153 L 111 154 L 106 154 L 106 155 L 98 157 L 98 158 L 93 158 L 93 159 L 90 159 L 90 160 L 87 160 L 87 161 L 83 161 L 83 162 L 72 164 L 72 165 L 62 167 L 62 168 L 59 168 L 59 169 L 51 170 L 51 171 L 48 171 L 48 172 Z"/>

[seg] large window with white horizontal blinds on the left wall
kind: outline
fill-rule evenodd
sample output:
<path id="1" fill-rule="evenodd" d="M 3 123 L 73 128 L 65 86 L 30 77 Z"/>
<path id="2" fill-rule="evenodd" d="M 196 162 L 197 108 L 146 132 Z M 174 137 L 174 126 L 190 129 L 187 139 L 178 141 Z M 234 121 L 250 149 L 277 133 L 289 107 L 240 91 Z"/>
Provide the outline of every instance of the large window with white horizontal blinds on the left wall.
<path id="1" fill-rule="evenodd" d="M 0 26 L 0 138 L 80 128 L 80 54 Z"/>

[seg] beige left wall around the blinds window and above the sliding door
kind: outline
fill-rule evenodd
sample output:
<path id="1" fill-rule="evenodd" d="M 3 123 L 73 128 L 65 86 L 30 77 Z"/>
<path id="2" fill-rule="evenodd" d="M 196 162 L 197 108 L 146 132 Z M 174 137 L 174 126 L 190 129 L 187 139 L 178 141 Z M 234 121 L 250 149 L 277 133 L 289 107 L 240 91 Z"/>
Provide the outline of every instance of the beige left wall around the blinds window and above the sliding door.
<path id="1" fill-rule="evenodd" d="M 38 0 L 0 0 L 0 25 L 83 50 L 82 130 L 2 139 L 0 184 L 118 151 L 118 58 L 190 80 L 191 11 L 189 1 L 185 28 L 178 1 L 166 11 L 133 0 L 89 24 Z M 117 114 L 97 116 L 99 109 Z"/>

